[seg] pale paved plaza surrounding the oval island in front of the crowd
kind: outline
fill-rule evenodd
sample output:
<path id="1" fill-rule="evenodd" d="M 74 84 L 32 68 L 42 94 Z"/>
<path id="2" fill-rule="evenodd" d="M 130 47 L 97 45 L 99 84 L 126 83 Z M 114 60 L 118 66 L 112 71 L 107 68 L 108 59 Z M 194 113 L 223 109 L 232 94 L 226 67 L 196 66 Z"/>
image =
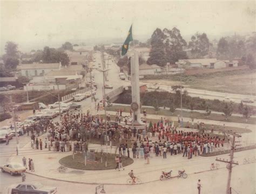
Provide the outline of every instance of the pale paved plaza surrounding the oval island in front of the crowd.
<path id="1" fill-rule="evenodd" d="M 101 147 L 99 144 L 90 144 L 89 149 L 93 148 L 98 151 L 101 149 L 106 152 L 106 145 Z M 112 148 L 111 153 L 114 153 L 115 147 Z M 110 147 L 107 152 L 110 153 Z M 77 170 L 68 168 L 66 172 L 59 172 L 57 169 L 60 167 L 59 160 L 62 157 L 71 155 L 72 151 L 61 153 L 56 151 L 49 151 L 48 149 L 35 150 L 30 147 L 30 143 L 26 144 L 21 150 L 21 156 L 12 156 L 10 161 L 22 163 L 22 157 L 25 156 L 32 158 L 35 163 L 35 172 L 28 171 L 31 174 L 38 176 L 59 179 L 62 181 L 72 181 L 78 183 L 90 183 L 90 184 L 126 184 L 126 180 L 129 178 L 127 175 L 131 169 L 134 174 L 142 179 L 143 183 L 155 182 L 159 180 L 161 171 L 173 170 L 172 175 L 177 176 L 178 170 L 185 169 L 188 176 L 210 170 L 211 163 L 215 162 L 215 156 L 213 157 L 201 157 L 197 156 L 190 160 L 187 157 L 182 157 L 181 154 L 170 156 L 167 154 L 167 159 L 163 159 L 163 156 L 154 156 L 151 154 L 150 164 L 145 164 L 144 158 L 134 158 L 134 163 L 125 167 L 125 170 Z M 242 164 L 244 155 L 250 157 L 255 155 L 255 150 L 247 150 L 239 153 L 235 153 L 235 161 Z M 221 155 L 222 158 L 228 159 L 228 154 Z M 220 163 L 220 168 L 225 168 L 225 163 Z"/>

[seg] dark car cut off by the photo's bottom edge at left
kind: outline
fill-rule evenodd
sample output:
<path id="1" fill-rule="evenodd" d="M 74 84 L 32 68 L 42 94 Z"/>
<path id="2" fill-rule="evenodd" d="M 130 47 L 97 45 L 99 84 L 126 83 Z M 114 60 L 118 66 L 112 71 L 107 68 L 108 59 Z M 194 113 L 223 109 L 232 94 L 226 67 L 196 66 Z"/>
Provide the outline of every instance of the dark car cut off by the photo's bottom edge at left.
<path id="1" fill-rule="evenodd" d="M 57 188 L 55 186 L 44 186 L 38 182 L 19 183 L 9 187 L 10 194 L 55 194 Z"/>

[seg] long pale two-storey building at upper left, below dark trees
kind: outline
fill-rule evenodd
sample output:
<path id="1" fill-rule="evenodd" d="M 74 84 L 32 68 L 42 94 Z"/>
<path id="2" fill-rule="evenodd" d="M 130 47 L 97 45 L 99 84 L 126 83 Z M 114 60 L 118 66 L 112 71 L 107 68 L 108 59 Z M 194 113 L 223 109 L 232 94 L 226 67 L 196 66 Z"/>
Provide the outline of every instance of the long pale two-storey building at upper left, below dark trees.
<path id="1" fill-rule="evenodd" d="M 22 64 L 21 65 L 21 74 L 25 77 L 35 77 L 40 75 L 45 75 L 50 71 L 60 70 L 62 66 L 61 63 L 51 63 L 51 64 Z"/>

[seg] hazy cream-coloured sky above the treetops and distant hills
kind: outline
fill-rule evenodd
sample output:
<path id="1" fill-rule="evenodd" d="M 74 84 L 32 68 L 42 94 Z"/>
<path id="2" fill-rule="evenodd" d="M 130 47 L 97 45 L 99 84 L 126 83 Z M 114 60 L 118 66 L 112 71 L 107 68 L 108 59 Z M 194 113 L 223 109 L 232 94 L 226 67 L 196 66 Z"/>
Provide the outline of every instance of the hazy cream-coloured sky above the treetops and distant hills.
<path id="1" fill-rule="evenodd" d="M 124 40 L 145 41 L 153 31 L 177 27 L 181 36 L 209 37 L 255 31 L 254 1 L 1 1 L 0 54 L 6 41 L 19 50 Z"/>

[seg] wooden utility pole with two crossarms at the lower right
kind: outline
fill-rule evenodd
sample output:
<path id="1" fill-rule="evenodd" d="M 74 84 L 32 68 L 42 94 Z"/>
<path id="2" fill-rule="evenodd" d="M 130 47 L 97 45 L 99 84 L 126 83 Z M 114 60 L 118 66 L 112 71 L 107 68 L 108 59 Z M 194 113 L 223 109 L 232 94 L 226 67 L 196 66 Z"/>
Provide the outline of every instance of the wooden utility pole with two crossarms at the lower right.
<path id="1" fill-rule="evenodd" d="M 225 162 L 227 163 L 227 168 L 228 168 L 228 178 L 227 178 L 227 188 L 226 188 L 226 194 L 231 194 L 231 175 L 232 175 L 232 168 L 233 168 L 233 164 L 238 165 L 238 162 L 234 162 L 234 150 L 235 150 L 235 137 L 241 137 L 241 135 L 238 135 L 232 131 L 226 130 L 226 129 L 219 129 L 220 131 L 222 131 L 225 136 L 226 134 L 230 134 L 233 136 L 232 142 L 231 142 L 231 150 L 230 150 L 230 161 L 225 161 L 224 159 L 218 159 L 216 158 L 216 161 L 219 162 Z"/>

